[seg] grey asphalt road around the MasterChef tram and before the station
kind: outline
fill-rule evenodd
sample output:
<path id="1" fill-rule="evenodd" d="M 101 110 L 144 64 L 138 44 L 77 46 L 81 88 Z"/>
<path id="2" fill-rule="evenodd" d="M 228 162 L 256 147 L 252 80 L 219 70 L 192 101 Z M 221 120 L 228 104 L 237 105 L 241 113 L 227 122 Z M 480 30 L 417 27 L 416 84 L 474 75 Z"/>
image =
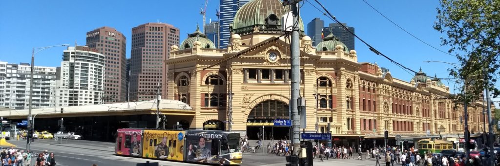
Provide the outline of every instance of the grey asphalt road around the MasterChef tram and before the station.
<path id="1" fill-rule="evenodd" d="M 18 149 L 26 148 L 25 141 L 10 140 L 8 143 L 14 144 Z M 31 150 L 41 153 L 44 150 L 53 152 L 57 166 L 135 166 L 137 163 L 146 161 L 158 162 L 159 166 L 206 166 L 189 163 L 168 162 L 151 159 L 129 158 L 114 155 L 114 143 L 96 142 L 85 140 L 64 140 L 62 144 L 54 140 L 35 140 L 31 144 Z M 34 165 L 33 159 L 33 164 Z M 314 160 L 314 166 L 369 166 L 375 164 L 373 160 Z M 268 154 L 243 154 L 243 164 L 241 166 L 284 166 L 285 158 Z"/>

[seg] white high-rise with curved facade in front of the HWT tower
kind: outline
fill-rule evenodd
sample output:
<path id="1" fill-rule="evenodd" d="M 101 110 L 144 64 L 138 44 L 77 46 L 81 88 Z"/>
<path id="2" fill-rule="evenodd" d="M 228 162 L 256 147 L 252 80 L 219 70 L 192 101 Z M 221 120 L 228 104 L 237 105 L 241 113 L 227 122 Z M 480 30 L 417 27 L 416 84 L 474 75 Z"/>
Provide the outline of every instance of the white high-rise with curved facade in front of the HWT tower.
<path id="1" fill-rule="evenodd" d="M 56 104 L 81 106 L 103 104 L 105 56 L 87 46 L 67 47 L 62 54 L 56 81 Z M 109 56 L 109 55 L 108 55 Z"/>

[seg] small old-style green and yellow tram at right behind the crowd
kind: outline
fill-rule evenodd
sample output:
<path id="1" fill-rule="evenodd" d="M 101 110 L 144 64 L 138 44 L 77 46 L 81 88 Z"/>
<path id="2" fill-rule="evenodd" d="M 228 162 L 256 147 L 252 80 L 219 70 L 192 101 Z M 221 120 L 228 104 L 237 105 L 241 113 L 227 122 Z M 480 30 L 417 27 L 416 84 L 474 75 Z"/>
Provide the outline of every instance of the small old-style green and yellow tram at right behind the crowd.
<path id="1" fill-rule="evenodd" d="M 418 154 L 425 155 L 427 152 L 440 153 L 442 150 L 453 150 L 453 143 L 444 140 L 423 139 L 418 141 Z"/>

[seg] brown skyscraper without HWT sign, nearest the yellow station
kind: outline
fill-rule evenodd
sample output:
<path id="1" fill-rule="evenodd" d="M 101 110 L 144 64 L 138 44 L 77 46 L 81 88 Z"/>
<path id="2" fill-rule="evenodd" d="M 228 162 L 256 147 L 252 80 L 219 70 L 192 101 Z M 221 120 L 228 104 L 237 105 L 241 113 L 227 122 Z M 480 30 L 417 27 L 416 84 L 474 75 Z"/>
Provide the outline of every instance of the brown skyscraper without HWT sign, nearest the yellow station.
<path id="1" fill-rule="evenodd" d="M 167 69 L 170 46 L 179 45 L 179 29 L 166 23 L 145 23 L 132 28 L 130 51 L 130 100 L 144 101 L 167 95 Z M 146 94 L 149 93 L 149 94 Z"/>

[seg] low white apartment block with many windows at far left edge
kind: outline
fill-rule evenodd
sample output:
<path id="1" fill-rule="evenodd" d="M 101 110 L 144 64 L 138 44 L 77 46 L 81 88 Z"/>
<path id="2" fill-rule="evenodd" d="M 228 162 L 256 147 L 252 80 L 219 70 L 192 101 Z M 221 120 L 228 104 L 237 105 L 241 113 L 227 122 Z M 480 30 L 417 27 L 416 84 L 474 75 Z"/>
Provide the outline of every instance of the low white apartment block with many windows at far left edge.
<path id="1" fill-rule="evenodd" d="M 55 67 L 34 66 L 33 89 L 30 89 L 31 65 L 0 62 L 0 107 L 26 109 L 29 91 L 33 91 L 32 107 L 54 106 Z"/>

